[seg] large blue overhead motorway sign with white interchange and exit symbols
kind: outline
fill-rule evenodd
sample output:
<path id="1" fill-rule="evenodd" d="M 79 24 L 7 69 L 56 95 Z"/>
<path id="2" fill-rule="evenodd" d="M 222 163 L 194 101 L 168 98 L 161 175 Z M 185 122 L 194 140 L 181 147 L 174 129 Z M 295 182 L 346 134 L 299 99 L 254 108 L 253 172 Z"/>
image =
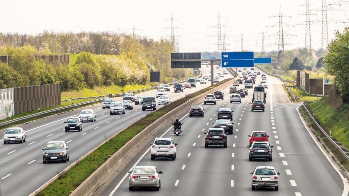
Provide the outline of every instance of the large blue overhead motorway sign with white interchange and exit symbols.
<path id="1" fill-rule="evenodd" d="M 222 67 L 253 67 L 253 52 L 222 52 Z"/>

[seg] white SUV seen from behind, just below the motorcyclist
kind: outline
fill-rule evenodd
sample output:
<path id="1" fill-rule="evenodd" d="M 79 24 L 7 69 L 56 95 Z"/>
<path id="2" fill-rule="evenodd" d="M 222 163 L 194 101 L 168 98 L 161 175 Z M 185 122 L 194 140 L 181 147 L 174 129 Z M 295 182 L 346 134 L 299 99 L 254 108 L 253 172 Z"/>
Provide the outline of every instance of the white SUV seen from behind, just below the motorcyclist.
<path id="1" fill-rule="evenodd" d="M 150 144 L 150 160 L 155 158 L 176 159 L 176 146 L 172 138 L 155 138 L 154 143 Z"/>

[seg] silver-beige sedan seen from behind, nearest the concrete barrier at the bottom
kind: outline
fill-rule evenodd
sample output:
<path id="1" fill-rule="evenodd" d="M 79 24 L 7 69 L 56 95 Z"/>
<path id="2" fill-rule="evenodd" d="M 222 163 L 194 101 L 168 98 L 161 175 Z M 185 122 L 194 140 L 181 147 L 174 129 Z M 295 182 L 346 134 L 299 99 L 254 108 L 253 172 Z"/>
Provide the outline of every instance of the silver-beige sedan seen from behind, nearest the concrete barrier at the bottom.
<path id="1" fill-rule="evenodd" d="M 155 166 L 135 166 L 128 173 L 128 190 L 137 187 L 154 187 L 155 190 L 160 190 L 162 171 L 158 171 Z"/>

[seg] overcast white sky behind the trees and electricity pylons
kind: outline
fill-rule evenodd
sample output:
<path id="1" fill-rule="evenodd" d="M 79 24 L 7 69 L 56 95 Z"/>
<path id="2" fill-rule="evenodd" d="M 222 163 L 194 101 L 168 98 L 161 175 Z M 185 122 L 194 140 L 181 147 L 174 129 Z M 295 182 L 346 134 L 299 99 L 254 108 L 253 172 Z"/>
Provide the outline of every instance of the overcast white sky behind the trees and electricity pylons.
<path id="1" fill-rule="evenodd" d="M 343 11 L 328 11 L 328 18 L 346 20 L 349 18 L 349 5 L 328 6 L 329 3 L 338 0 L 327 0 L 327 8 L 341 8 Z M 297 35 L 285 38 L 285 43 L 290 41 L 292 45 L 285 45 L 285 50 L 305 46 L 305 0 L 215 0 L 215 1 L 191 1 L 191 0 L 6 0 L 1 3 L 1 16 L 3 22 L 1 32 L 18 32 L 36 34 L 44 29 L 53 31 L 116 31 L 122 29 L 126 33 L 132 33 L 133 22 L 139 36 L 160 39 L 171 34 L 171 22 L 166 19 L 178 19 L 174 21 L 174 33 L 180 35 L 179 52 L 202 52 L 216 51 L 217 28 L 209 28 L 216 25 L 217 19 L 212 17 L 220 15 L 227 18 L 221 19 L 221 25 L 229 26 L 222 28 L 222 33 L 232 37 L 226 38 L 227 52 L 240 51 L 243 33 L 244 49 L 261 51 L 261 34 L 265 36 L 278 31 L 278 27 L 266 28 L 279 22 L 279 17 L 269 17 L 279 14 L 281 5 L 282 14 L 290 15 L 283 17 L 283 23 L 294 25 L 293 28 L 284 28 L 284 31 Z M 349 1 L 347 1 L 349 2 Z M 310 9 L 321 8 L 322 0 L 309 0 Z M 314 49 L 321 47 L 321 11 L 312 11 L 317 15 L 311 15 L 310 20 L 320 19 L 318 24 L 311 25 L 311 46 Z M 6 22 L 4 22 L 6 21 Z M 334 37 L 334 30 L 343 31 L 349 23 L 328 22 L 329 40 Z M 270 43 L 276 42 L 276 37 L 265 37 Z M 258 47 L 259 46 L 259 47 Z M 270 47 L 267 47 L 270 46 Z M 269 45 L 265 40 L 265 50 L 277 50 L 277 45 Z"/>

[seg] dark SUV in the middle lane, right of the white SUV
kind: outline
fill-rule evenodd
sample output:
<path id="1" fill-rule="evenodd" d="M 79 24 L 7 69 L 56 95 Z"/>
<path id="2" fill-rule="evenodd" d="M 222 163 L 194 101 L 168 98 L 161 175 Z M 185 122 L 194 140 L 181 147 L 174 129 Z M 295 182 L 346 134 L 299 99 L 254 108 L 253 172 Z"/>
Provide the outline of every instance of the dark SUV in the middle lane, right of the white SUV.
<path id="1" fill-rule="evenodd" d="M 209 128 L 205 135 L 205 148 L 208 148 L 209 145 L 222 145 L 224 148 L 227 148 L 227 134 L 223 128 Z"/>

